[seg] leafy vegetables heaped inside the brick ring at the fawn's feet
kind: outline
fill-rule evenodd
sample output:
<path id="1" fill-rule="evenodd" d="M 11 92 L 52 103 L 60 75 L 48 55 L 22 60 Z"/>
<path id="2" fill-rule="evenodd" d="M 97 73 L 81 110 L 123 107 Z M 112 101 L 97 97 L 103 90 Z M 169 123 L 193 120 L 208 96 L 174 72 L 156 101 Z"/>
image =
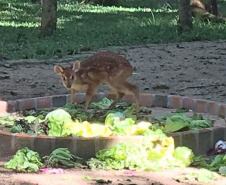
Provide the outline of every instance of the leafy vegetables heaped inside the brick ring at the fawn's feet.
<path id="1" fill-rule="evenodd" d="M 198 130 L 213 126 L 212 121 L 201 115 L 192 117 L 184 113 L 171 113 L 157 116 L 155 120 L 140 119 L 133 114 L 135 105 L 117 104 L 116 109 L 108 110 L 112 100 L 103 98 L 93 102 L 88 112 L 83 105 L 67 104 L 52 110 L 22 111 L 0 117 L 0 126 L 15 133 L 45 134 L 49 136 L 111 136 L 111 135 L 149 135 L 153 128 L 165 133 L 183 130 Z M 150 109 L 141 107 L 141 113 L 150 114 Z M 152 124 L 152 123 L 153 124 Z"/>

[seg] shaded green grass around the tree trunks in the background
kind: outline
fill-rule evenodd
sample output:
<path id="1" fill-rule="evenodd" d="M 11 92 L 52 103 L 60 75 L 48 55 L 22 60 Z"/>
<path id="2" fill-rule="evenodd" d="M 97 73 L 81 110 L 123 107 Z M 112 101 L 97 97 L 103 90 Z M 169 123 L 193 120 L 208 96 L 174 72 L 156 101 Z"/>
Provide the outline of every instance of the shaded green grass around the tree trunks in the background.
<path id="1" fill-rule="evenodd" d="M 226 2 L 219 7 L 223 13 Z M 0 56 L 9 59 L 57 58 L 108 46 L 226 39 L 225 23 L 200 20 L 194 20 L 191 34 L 179 34 L 174 0 L 123 0 L 121 7 L 58 0 L 57 31 L 42 39 L 37 37 L 39 4 L 0 0 L 0 17 Z"/>

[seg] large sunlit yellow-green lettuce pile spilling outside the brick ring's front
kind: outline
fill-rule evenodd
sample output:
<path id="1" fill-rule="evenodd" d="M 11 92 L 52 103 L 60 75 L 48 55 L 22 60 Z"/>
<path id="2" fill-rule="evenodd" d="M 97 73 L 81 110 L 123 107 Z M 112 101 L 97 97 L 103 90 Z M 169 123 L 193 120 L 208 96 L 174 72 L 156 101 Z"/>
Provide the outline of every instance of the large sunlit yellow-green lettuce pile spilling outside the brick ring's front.
<path id="1" fill-rule="evenodd" d="M 152 131 L 142 144 L 119 143 L 100 150 L 88 161 L 91 169 L 130 169 L 158 171 L 172 167 L 189 166 L 194 154 L 187 147 L 174 148 L 174 140 L 161 130 Z"/>

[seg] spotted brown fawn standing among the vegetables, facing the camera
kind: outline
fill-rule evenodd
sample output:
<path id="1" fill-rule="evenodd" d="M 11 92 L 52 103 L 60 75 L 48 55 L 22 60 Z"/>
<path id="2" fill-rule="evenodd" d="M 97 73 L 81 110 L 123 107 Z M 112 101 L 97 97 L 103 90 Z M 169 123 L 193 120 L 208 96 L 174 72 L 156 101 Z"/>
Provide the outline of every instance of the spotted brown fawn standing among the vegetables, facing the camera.
<path id="1" fill-rule="evenodd" d="M 56 65 L 54 71 L 60 75 L 63 85 L 71 91 L 71 104 L 74 103 L 75 91 L 86 91 L 86 111 L 99 85 L 106 83 L 116 92 L 116 99 L 109 108 L 114 108 L 125 94 L 133 94 L 138 115 L 140 93 L 136 85 L 126 81 L 132 75 L 133 67 L 124 57 L 112 52 L 99 52 L 82 62 L 75 61 L 70 67 Z"/>

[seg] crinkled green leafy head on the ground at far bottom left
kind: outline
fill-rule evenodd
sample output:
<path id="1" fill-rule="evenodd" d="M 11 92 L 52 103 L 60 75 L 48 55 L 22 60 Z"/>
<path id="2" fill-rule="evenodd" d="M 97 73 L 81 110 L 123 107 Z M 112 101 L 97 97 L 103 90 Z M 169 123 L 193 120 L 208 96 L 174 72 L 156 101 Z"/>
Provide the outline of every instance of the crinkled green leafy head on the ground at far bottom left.
<path id="1" fill-rule="evenodd" d="M 13 158 L 4 164 L 4 167 L 20 172 L 37 172 L 43 164 L 37 152 L 25 147 L 18 150 Z"/>

